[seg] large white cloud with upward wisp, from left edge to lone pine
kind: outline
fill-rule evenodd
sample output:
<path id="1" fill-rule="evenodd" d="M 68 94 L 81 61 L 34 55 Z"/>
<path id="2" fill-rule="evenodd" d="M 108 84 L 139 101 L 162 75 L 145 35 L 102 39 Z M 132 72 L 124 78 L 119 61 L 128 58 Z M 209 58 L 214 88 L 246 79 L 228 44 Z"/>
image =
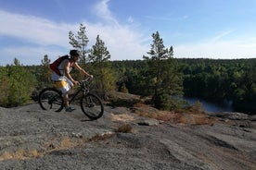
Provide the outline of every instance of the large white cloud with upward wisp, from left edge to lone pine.
<path id="1" fill-rule="evenodd" d="M 95 6 L 99 9 L 97 15 L 103 21 L 83 21 L 89 38 L 88 48 L 96 42 L 96 35 L 99 35 L 109 50 L 111 60 L 142 59 L 148 50 L 148 39 L 142 33 L 132 30 L 129 25 L 120 25 L 111 16 L 108 2 L 109 0 L 103 0 Z M 20 59 L 20 63 L 24 65 L 39 65 L 44 55 L 53 60 L 57 55 L 66 54 L 71 48 L 69 31 L 76 33 L 80 26 L 80 23 L 58 23 L 3 10 L 0 10 L 0 22 L 5 23 L 1 25 L 0 38 L 12 37 L 24 42 L 15 46 L 0 44 L 0 66 L 12 63 L 14 57 Z M 4 57 L 6 59 L 3 60 Z"/>

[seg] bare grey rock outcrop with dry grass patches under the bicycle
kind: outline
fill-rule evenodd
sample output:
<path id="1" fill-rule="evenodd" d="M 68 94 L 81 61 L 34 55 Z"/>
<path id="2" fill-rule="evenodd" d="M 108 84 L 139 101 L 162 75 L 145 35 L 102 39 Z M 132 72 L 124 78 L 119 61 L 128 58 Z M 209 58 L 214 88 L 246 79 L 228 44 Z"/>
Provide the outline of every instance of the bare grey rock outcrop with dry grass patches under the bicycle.
<path id="1" fill-rule="evenodd" d="M 0 108 L 0 167 L 256 169 L 253 115 L 205 115 L 211 121 L 204 124 L 195 121 L 203 115 L 190 123 L 192 115 L 186 122 L 142 116 L 153 110 L 105 106 L 103 117 L 90 121 L 79 106 L 72 113 L 43 111 L 37 103 Z M 119 131 L 123 125 L 132 130 Z"/>

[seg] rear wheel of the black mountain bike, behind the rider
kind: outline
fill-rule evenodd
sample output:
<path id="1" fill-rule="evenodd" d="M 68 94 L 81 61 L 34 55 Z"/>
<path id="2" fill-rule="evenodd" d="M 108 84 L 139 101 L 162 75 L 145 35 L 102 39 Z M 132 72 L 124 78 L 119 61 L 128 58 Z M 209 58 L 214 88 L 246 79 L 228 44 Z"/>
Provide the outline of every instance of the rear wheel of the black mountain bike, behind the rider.
<path id="1" fill-rule="evenodd" d="M 64 107 L 61 91 L 55 88 L 45 88 L 39 93 L 38 103 L 44 110 L 60 112 Z"/>

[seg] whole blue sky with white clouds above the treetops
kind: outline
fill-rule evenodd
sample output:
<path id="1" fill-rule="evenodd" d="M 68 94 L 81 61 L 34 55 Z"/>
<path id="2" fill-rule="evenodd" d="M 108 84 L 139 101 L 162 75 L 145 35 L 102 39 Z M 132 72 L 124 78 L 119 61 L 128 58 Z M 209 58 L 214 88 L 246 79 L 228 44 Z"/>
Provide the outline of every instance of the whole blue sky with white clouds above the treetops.
<path id="1" fill-rule="evenodd" d="M 53 61 L 86 27 L 111 60 L 142 59 L 159 31 L 176 58 L 256 58 L 256 0 L 0 0 L 0 66 Z"/>

